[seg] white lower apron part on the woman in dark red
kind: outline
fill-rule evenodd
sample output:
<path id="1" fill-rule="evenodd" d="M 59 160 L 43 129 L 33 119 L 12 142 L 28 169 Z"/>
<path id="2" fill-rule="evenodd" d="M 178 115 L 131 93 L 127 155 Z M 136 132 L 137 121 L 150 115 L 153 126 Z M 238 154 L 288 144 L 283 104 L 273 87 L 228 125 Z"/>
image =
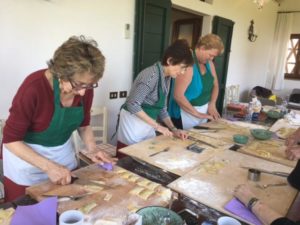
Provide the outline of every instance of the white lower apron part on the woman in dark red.
<path id="1" fill-rule="evenodd" d="M 77 160 L 71 139 L 63 145 L 55 147 L 45 147 L 38 144 L 25 144 L 45 158 L 63 165 L 69 170 L 74 170 L 77 167 Z M 46 173 L 13 154 L 5 147 L 4 144 L 3 158 L 5 158 L 5 160 L 3 160 L 4 176 L 16 184 L 30 186 L 49 179 Z"/>

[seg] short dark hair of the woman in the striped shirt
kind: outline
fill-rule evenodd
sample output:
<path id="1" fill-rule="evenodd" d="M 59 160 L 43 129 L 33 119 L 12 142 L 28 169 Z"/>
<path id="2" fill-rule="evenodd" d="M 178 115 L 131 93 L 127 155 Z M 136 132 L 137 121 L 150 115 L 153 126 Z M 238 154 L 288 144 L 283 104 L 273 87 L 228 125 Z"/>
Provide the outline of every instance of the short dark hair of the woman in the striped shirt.
<path id="1" fill-rule="evenodd" d="M 161 60 L 162 65 L 167 66 L 169 58 L 171 65 L 183 63 L 191 66 L 194 63 L 191 49 L 185 39 L 176 40 L 165 50 Z"/>

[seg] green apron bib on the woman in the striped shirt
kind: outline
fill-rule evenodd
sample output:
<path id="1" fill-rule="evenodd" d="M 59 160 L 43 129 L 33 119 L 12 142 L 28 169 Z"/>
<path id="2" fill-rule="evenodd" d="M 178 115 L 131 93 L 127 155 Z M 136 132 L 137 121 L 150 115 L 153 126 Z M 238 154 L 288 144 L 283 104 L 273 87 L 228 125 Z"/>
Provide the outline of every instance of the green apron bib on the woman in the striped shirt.
<path id="1" fill-rule="evenodd" d="M 161 81 L 161 72 L 159 69 L 158 64 L 156 64 L 157 69 L 158 69 L 158 101 L 154 105 L 149 105 L 149 104 L 142 104 L 142 109 L 144 110 L 145 113 L 147 113 L 148 116 L 150 116 L 152 119 L 156 120 L 160 111 L 164 108 L 165 106 L 165 101 L 166 101 L 166 95 L 163 92 L 162 89 L 162 81 Z"/>

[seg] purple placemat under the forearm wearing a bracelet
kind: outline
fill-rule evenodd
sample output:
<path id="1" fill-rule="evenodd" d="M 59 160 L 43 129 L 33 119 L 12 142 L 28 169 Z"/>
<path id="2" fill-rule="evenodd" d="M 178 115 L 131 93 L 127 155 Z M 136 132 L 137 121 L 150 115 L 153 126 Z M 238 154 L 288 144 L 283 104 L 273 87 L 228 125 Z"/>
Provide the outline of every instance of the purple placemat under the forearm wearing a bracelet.
<path id="1" fill-rule="evenodd" d="M 236 198 L 233 198 L 230 202 L 228 202 L 224 208 L 232 214 L 235 214 L 250 223 L 262 225 L 260 220 Z"/>

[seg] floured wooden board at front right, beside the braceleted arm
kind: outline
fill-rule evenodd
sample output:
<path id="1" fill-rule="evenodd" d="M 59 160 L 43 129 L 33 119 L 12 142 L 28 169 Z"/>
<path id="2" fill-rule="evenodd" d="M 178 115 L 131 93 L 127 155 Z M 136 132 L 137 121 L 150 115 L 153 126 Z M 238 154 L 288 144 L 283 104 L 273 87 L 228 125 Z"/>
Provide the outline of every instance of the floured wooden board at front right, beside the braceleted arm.
<path id="1" fill-rule="evenodd" d="M 241 168 L 241 166 L 265 170 L 272 168 L 274 171 L 288 173 L 292 170 L 288 166 L 226 150 L 206 162 L 202 162 L 193 171 L 172 182 L 168 187 L 208 207 L 237 217 L 226 211 L 224 206 L 232 199 L 232 192 L 238 184 L 248 183 L 253 187 L 255 195 L 259 199 L 285 215 L 296 197 L 297 190 L 288 184 L 267 189 L 259 188 L 258 185 L 287 181 L 286 178 L 263 173 L 259 182 L 249 181 L 247 178 L 248 170 Z"/>

